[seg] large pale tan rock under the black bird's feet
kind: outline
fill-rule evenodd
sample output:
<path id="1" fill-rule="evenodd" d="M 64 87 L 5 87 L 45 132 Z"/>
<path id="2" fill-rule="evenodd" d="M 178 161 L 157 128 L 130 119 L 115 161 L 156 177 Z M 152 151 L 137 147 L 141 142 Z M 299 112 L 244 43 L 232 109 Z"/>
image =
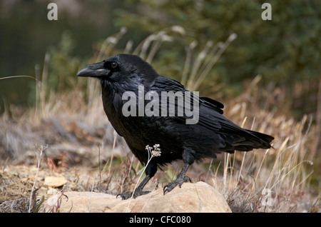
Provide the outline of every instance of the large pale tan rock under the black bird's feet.
<path id="1" fill-rule="evenodd" d="M 50 198 L 50 206 L 61 199 L 60 212 L 220 212 L 230 213 L 230 207 L 222 194 L 207 183 L 183 183 L 163 196 L 163 190 L 157 190 L 138 198 L 122 201 L 121 198 L 105 193 L 76 192 L 63 193 L 63 196 Z M 68 198 L 68 200 L 67 200 Z"/>

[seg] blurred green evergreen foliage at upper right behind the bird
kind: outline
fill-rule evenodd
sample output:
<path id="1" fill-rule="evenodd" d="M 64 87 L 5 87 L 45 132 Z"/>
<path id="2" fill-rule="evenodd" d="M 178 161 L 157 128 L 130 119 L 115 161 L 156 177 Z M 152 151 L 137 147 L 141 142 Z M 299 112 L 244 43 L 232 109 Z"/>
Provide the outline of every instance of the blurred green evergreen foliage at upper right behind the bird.
<path id="1" fill-rule="evenodd" d="M 118 9 L 116 26 L 143 34 L 175 25 L 186 30 L 183 39 L 171 44 L 170 53 L 158 54 L 160 61 L 172 60 L 168 69 L 183 69 L 177 66 L 184 64 L 177 58 L 185 54 L 182 43 L 188 46 L 196 40 L 196 48 L 201 50 L 209 40 L 216 44 L 236 33 L 238 39 L 220 57 L 208 79 L 240 89 L 243 81 L 258 74 L 263 75 L 262 84 L 272 81 L 287 87 L 320 76 L 320 1 L 269 1 L 271 21 L 261 19 L 265 1 L 128 2 L 136 10 Z"/>

